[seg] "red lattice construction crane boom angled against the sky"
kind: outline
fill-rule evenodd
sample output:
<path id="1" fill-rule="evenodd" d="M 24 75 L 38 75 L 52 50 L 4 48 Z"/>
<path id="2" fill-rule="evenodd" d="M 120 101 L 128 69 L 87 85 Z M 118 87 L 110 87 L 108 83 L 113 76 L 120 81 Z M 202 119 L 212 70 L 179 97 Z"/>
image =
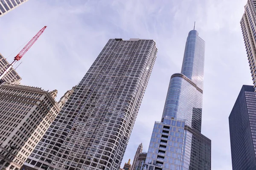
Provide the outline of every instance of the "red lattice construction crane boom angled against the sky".
<path id="1" fill-rule="evenodd" d="M 9 67 L 3 72 L 3 74 L 1 74 L 0 76 L 0 85 L 3 83 L 3 77 L 6 75 L 6 73 L 12 68 L 12 66 L 15 64 L 15 62 L 19 61 L 21 59 L 21 57 L 23 57 L 24 54 L 26 54 L 26 52 L 29 50 L 29 48 L 36 42 L 36 40 L 38 40 L 38 38 L 40 37 L 41 34 L 43 34 L 45 28 L 47 26 L 44 26 L 28 43 L 27 45 L 19 52 L 19 54 L 17 54 L 16 57 L 14 57 L 14 61 L 12 62 L 12 64 L 9 65 Z"/>

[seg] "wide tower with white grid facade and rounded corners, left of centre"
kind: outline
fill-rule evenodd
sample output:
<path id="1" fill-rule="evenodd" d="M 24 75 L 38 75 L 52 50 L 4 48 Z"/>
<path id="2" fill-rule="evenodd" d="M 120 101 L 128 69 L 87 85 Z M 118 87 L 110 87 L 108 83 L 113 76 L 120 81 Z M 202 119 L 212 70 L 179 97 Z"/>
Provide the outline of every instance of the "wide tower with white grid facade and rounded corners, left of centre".
<path id="1" fill-rule="evenodd" d="M 154 40 L 110 39 L 24 166 L 118 169 L 156 56 Z"/>

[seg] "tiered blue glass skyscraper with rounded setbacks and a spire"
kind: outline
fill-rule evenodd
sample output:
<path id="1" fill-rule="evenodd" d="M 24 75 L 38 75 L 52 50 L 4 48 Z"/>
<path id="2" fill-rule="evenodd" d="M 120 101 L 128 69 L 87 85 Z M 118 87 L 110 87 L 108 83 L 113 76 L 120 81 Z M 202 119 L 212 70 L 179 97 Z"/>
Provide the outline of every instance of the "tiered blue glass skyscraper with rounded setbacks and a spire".
<path id="1" fill-rule="evenodd" d="M 189 32 L 181 73 L 173 74 L 161 122 L 155 122 L 147 170 L 210 170 L 211 141 L 201 134 L 205 42 Z"/>

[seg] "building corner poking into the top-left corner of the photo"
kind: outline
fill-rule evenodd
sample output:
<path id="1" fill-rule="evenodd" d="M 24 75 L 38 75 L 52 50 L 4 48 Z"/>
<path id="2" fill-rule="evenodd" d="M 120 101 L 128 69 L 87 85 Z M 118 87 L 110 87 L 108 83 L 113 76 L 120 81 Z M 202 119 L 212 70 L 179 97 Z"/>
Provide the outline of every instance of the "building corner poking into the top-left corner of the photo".
<path id="1" fill-rule="evenodd" d="M 0 17 L 27 1 L 28 0 L 0 0 Z"/>

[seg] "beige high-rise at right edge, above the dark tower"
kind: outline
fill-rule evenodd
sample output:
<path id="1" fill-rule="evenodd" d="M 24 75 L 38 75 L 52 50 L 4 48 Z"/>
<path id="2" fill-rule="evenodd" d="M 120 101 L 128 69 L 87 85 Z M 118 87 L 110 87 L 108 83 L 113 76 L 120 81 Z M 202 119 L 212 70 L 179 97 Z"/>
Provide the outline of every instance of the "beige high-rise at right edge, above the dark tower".
<path id="1" fill-rule="evenodd" d="M 247 51 L 247 59 L 249 61 L 250 71 L 253 79 L 253 85 L 256 91 L 256 1 L 248 0 L 244 6 L 244 14 L 240 21 L 244 44 Z"/>

